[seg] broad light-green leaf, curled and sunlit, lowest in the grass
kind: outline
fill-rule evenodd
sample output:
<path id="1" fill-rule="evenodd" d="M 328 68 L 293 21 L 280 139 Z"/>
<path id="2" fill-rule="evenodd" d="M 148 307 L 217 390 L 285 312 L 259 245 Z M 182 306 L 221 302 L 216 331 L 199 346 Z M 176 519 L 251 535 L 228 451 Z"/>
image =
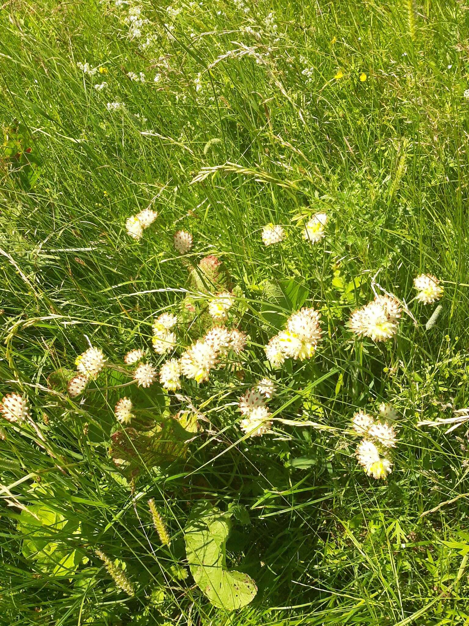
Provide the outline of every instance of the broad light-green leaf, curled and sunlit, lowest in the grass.
<path id="1" fill-rule="evenodd" d="M 189 568 L 210 602 L 219 608 L 245 607 L 257 593 L 256 583 L 243 572 L 226 569 L 228 515 L 216 508 L 194 520 L 184 532 Z"/>

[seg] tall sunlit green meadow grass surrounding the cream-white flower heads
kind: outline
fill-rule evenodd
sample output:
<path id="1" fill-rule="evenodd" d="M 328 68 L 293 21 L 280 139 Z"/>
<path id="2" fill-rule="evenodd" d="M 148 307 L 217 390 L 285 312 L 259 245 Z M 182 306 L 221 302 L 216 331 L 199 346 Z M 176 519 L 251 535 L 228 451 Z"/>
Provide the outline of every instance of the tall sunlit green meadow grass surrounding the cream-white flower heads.
<path id="1" fill-rule="evenodd" d="M 32 421 L 3 420 L 0 623 L 469 623 L 469 431 L 417 426 L 469 406 L 468 9 L 3 4 L 0 391 L 28 398 Z M 158 218 L 134 240 L 126 220 L 146 207 Z M 263 245 L 268 223 L 283 242 Z M 208 255 L 235 287 L 245 351 L 179 398 L 137 388 L 124 355 L 145 349 L 159 369 L 154 317 L 204 297 L 188 270 Z M 444 287 L 428 328 L 419 274 Z M 346 326 L 373 289 L 415 317 L 387 342 Z M 296 304 L 320 310 L 323 339 L 273 370 L 263 347 Z M 176 357 L 203 322 L 177 332 Z M 69 398 L 90 345 L 106 367 Z M 248 437 L 237 404 L 265 376 L 273 426 Z M 189 441 L 169 432 L 155 462 L 129 439 L 131 472 L 116 465 L 124 395 L 144 432 L 196 410 Z M 357 463 L 351 429 L 380 403 L 397 414 L 387 480 Z M 189 572 L 202 506 L 231 515 L 226 567 L 258 587 L 245 608 L 214 606 Z"/>

